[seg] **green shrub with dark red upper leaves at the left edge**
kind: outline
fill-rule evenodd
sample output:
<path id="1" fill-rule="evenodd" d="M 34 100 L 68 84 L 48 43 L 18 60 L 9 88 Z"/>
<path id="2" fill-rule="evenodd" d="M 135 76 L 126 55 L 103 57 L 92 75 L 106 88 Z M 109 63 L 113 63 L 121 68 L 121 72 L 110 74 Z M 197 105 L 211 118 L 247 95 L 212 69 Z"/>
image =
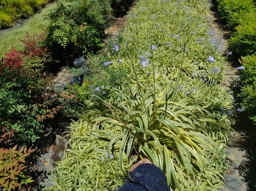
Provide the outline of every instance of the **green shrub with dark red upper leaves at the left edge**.
<path id="1" fill-rule="evenodd" d="M 52 106 L 54 98 L 45 88 L 49 78 L 41 74 L 42 69 L 25 67 L 24 55 L 12 48 L 0 62 L 0 128 L 15 130 L 10 145 L 34 144 L 60 109 Z"/>

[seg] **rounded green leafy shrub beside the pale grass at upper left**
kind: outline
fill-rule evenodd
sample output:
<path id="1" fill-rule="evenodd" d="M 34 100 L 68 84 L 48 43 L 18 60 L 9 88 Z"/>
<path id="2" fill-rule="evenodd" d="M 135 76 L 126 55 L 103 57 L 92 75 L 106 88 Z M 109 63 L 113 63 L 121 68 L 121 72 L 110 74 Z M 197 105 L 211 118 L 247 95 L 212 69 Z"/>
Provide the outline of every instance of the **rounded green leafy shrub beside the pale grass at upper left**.
<path id="1" fill-rule="evenodd" d="M 80 0 L 69 7 L 60 3 L 49 18 L 47 41 L 55 54 L 96 52 L 102 46 L 107 21 L 104 1 Z"/>

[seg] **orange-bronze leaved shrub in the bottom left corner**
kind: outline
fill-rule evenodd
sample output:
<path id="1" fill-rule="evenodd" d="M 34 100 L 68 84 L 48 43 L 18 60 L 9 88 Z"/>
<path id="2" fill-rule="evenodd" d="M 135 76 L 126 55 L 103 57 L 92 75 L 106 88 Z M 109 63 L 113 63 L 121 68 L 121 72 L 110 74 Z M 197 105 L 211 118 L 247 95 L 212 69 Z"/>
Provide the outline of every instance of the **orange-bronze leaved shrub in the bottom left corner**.
<path id="1" fill-rule="evenodd" d="M 0 188 L 2 191 L 15 191 L 32 180 L 26 175 L 25 159 L 35 150 L 17 145 L 13 148 L 0 148 Z"/>

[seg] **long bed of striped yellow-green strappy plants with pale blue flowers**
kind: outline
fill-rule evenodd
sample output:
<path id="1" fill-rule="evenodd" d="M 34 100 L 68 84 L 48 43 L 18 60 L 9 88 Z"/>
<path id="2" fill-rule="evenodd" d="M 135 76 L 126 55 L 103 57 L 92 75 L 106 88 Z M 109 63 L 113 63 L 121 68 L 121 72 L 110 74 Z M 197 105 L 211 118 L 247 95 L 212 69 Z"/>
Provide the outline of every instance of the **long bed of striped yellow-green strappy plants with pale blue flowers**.
<path id="1" fill-rule="evenodd" d="M 101 153 L 86 168 L 98 165 L 104 170 L 106 166 L 98 161 L 108 153 L 110 166 L 118 165 L 124 175 L 134 160 L 146 156 L 165 172 L 173 190 L 219 189 L 228 168 L 225 148 L 231 127 L 227 112 L 233 110 L 233 98 L 223 86 L 226 62 L 220 56 L 220 37 L 214 39 L 207 30 L 208 10 L 207 0 L 140 0 L 129 14 L 122 43 L 113 46 L 109 60 L 92 60 L 110 98 L 101 98 L 101 108 L 87 110 L 72 124 L 77 128 L 89 124 L 73 129 L 71 138 L 87 132 L 76 136 L 75 156 L 84 152 L 75 147 L 83 140 L 95 149 L 92 152 Z M 110 83 L 100 65 L 118 74 L 117 79 Z M 66 155 L 59 171 L 54 171 L 56 190 L 66 182 L 56 178 L 67 178 L 60 171 L 70 167 L 64 163 Z M 132 160 L 132 155 L 137 157 Z M 77 176 L 82 177 L 82 170 Z M 124 181 L 119 178 L 114 180 Z M 99 185 L 114 183 L 108 181 Z M 95 188 L 86 183 L 79 184 L 80 188 Z"/>

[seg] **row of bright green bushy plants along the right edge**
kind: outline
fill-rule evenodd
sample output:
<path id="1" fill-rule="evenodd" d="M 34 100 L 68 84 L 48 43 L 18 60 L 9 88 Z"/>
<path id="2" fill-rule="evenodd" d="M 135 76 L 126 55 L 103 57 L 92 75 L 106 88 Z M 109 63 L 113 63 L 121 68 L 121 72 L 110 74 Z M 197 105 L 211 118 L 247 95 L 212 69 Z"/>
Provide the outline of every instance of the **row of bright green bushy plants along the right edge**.
<path id="1" fill-rule="evenodd" d="M 240 73 L 241 93 L 238 94 L 239 102 L 255 124 L 255 3 L 253 0 L 217 0 L 217 2 L 221 17 L 227 22 L 227 26 L 233 30 L 230 46 L 238 56 L 241 56 L 240 63 L 245 67 Z"/>

